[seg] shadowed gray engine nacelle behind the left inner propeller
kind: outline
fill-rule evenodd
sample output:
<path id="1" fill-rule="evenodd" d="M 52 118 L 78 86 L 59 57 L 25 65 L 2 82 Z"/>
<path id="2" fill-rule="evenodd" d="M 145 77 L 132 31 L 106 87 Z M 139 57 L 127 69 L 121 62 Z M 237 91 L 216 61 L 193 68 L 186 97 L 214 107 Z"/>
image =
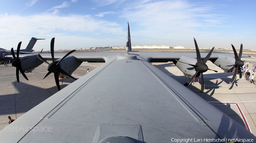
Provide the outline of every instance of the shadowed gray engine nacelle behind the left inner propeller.
<path id="1" fill-rule="evenodd" d="M 59 60 L 61 60 L 61 58 L 57 61 Z M 82 61 L 79 61 L 74 56 L 69 55 L 68 57 L 64 58 L 59 64 L 62 70 L 66 71 L 66 73 L 71 75 L 82 64 Z M 63 77 L 63 79 L 69 78 L 62 73 L 59 74 L 59 77 Z"/>

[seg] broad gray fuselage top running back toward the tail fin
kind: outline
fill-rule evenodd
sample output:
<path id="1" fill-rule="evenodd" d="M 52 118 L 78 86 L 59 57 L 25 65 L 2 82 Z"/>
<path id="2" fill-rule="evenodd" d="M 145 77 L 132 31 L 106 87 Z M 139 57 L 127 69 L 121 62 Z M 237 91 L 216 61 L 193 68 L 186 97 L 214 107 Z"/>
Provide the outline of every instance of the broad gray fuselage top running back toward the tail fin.
<path id="1" fill-rule="evenodd" d="M 108 57 L 108 53 L 102 54 L 90 53 L 88 57 Z M 109 136 L 128 136 L 147 143 L 170 142 L 171 138 L 255 138 L 151 65 L 148 60 L 160 58 L 157 54 L 136 55 L 139 60 L 106 58 L 105 64 L 22 115 L 9 126 L 22 123 L 34 128 L 50 126 L 52 130 L 19 132 L 13 141 L 100 142 Z"/>

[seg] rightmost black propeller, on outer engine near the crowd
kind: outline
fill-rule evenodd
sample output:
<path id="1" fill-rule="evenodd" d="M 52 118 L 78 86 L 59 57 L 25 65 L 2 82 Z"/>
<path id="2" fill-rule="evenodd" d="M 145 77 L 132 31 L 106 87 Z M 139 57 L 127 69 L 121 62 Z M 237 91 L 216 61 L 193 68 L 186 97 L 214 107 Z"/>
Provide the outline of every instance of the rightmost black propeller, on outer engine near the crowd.
<path id="1" fill-rule="evenodd" d="M 232 44 L 231 44 L 232 45 Z M 233 65 L 228 65 L 228 66 L 233 66 L 235 67 L 235 73 L 231 79 L 231 81 L 229 83 L 233 83 L 235 78 L 236 78 L 236 74 L 237 74 L 237 71 L 239 70 L 239 79 L 242 78 L 242 71 L 241 71 L 241 67 L 244 65 L 244 62 L 241 60 L 241 57 L 242 57 L 242 52 L 243 52 L 243 44 L 241 44 L 240 46 L 240 51 L 239 51 L 239 55 L 237 55 L 236 53 L 236 49 L 235 47 L 232 45 L 232 48 L 233 48 L 233 51 L 234 51 L 234 54 L 235 54 L 235 64 Z"/>

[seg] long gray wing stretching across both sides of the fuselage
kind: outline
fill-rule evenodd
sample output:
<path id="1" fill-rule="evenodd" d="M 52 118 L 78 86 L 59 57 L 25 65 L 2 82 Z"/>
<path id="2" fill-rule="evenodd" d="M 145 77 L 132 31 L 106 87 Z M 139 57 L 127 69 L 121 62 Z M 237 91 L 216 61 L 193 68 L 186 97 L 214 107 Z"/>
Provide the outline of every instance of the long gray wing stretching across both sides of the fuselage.
<path id="1" fill-rule="evenodd" d="M 26 54 L 26 55 L 19 55 L 19 57 L 25 57 L 27 55 L 35 55 L 38 53 L 33 54 Z M 65 56 L 66 53 L 58 53 L 55 54 L 54 59 L 57 60 Z M 71 56 L 76 57 L 80 61 L 87 61 L 87 62 L 105 62 L 106 60 L 117 57 L 119 55 L 125 55 L 126 53 L 123 51 L 104 51 L 104 52 L 74 52 L 70 54 Z M 197 58 L 195 52 L 186 53 L 186 52 L 161 52 L 161 51 L 130 51 L 129 54 L 140 56 L 141 58 L 147 60 L 148 62 L 169 62 L 178 60 L 181 56 L 189 56 L 192 58 Z M 202 60 L 207 56 L 208 53 L 201 53 Z M 40 54 L 44 59 L 51 60 L 51 53 L 42 53 Z M 219 54 L 219 53 L 212 53 L 209 60 L 217 59 L 220 55 L 227 55 L 230 56 L 231 54 Z M 12 57 L 12 55 L 8 55 L 5 57 Z M 242 55 L 241 57 L 250 57 L 249 55 Z"/>

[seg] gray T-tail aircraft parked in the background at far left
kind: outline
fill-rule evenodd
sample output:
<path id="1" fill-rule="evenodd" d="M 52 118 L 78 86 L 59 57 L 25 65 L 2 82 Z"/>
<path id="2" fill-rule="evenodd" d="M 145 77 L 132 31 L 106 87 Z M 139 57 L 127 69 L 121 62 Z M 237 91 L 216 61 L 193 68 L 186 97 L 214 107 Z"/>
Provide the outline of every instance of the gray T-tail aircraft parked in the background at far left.
<path id="1" fill-rule="evenodd" d="M 36 44 L 37 40 L 45 40 L 45 39 L 37 39 L 37 38 L 32 37 L 31 40 L 29 41 L 26 49 L 20 49 L 20 53 L 32 53 L 34 51 L 33 47 Z M 16 51 L 14 51 L 14 52 L 16 53 Z M 5 57 L 7 55 L 12 55 L 11 51 L 9 51 L 9 50 L 1 48 L 0 49 L 0 55 L 1 55 L 0 56 L 0 61 L 11 60 L 12 59 L 12 57 Z"/>

